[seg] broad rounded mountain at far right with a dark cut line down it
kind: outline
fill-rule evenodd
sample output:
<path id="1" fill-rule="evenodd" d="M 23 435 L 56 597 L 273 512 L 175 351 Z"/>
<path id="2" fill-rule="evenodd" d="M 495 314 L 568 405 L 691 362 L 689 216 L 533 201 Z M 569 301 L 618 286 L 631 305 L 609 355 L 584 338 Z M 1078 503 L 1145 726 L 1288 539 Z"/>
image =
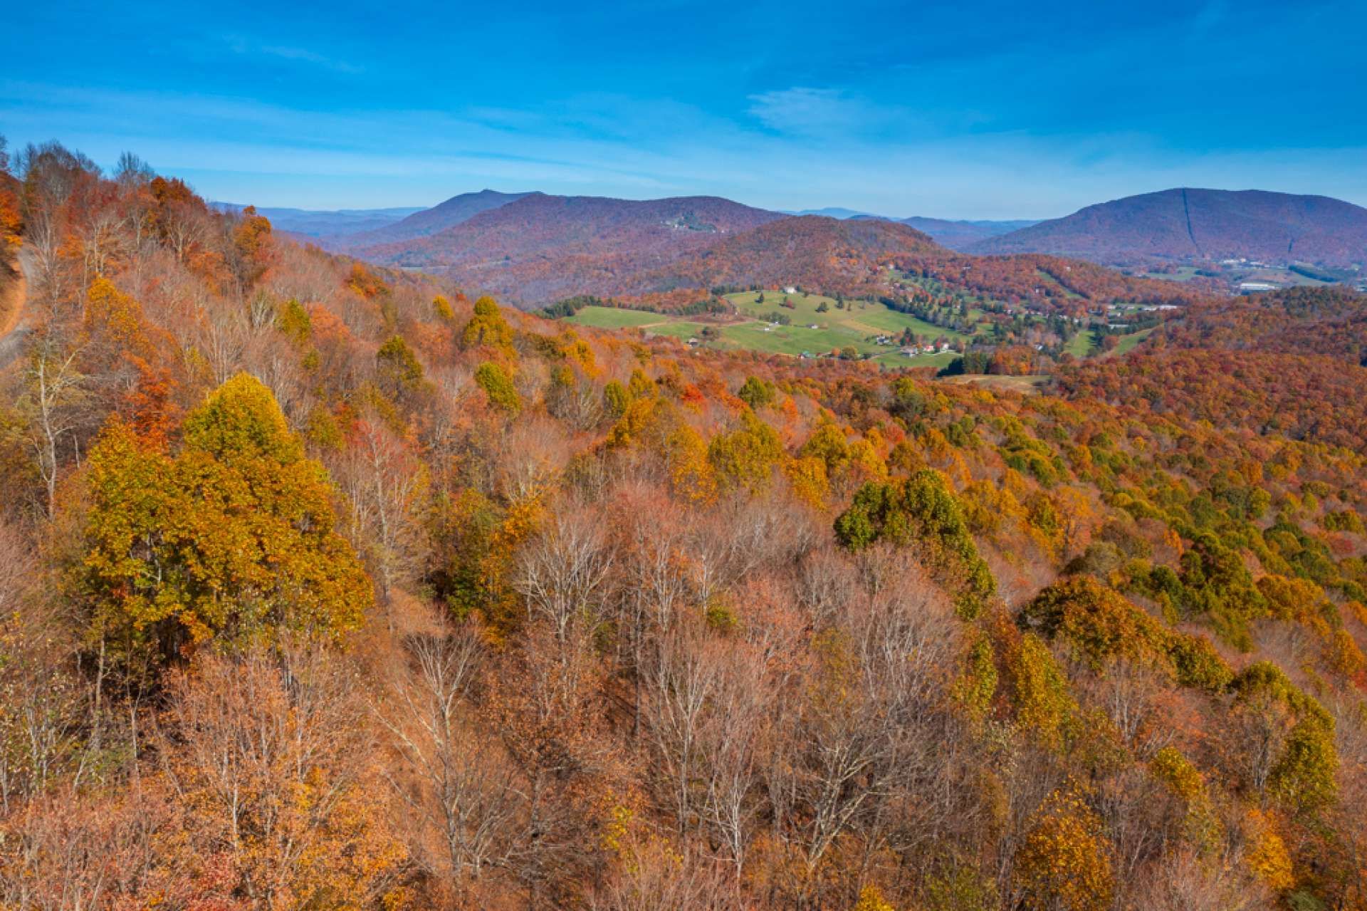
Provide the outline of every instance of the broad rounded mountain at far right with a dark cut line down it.
<path id="1" fill-rule="evenodd" d="M 1323 196 L 1174 189 L 1089 205 L 966 249 L 1109 265 L 1222 259 L 1355 265 L 1367 261 L 1367 209 Z"/>

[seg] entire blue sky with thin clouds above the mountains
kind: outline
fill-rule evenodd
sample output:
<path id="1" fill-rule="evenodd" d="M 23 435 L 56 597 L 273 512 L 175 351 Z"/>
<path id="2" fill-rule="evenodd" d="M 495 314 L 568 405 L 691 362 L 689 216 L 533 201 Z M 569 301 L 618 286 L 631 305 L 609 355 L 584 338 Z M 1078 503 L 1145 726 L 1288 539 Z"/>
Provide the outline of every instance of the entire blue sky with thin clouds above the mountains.
<path id="1" fill-rule="evenodd" d="M 0 133 L 211 198 L 493 187 L 1047 217 L 1170 186 L 1367 204 L 1367 3 L 52 3 Z"/>

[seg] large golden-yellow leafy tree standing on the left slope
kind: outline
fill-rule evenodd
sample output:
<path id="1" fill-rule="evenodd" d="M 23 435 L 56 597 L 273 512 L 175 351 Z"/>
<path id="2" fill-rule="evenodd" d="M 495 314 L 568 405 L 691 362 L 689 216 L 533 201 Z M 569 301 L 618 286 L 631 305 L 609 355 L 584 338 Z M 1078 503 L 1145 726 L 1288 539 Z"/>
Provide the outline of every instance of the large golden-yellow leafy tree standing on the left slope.
<path id="1" fill-rule="evenodd" d="M 93 635 L 164 661 L 215 637 L 360 626 L 370 580 L 271 391 L 238 375 L 183 432 L 172 457 L 115 423 L 90 451 L 74 583 Z"/>

